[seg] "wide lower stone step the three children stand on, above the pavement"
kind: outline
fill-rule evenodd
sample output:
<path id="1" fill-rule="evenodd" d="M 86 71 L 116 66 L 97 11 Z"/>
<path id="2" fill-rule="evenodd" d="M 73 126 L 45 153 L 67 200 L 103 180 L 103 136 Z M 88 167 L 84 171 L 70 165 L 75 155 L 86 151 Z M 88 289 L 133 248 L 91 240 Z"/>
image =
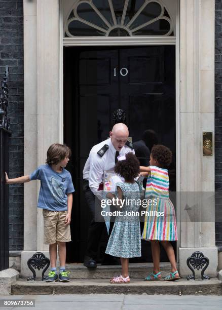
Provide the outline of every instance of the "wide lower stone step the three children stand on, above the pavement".
<path id="1" fill-rule="evenodd" d="M 110 284 L 107 279 L 71 280 L 69 283 L 27 282 L 19 279 L 11 288 L 12 295 L 57 294 L 163 294 L 163 295 L 221 295 L 218 279 L 174 282 L 145 282 L 131 279 L 129 284 Z"/>

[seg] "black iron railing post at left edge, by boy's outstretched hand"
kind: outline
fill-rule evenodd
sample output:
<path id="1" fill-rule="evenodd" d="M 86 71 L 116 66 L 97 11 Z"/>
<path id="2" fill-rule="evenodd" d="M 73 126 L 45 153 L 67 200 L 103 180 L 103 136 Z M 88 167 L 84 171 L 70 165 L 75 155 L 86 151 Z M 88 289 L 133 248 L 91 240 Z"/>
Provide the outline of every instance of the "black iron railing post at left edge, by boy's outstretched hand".
<path id="1" fill-rule="evenodd" d="M 5 171 L 9 171 L 8 66 L 0 91 L 0 271 L 9 268 L 9 186 Z"/>

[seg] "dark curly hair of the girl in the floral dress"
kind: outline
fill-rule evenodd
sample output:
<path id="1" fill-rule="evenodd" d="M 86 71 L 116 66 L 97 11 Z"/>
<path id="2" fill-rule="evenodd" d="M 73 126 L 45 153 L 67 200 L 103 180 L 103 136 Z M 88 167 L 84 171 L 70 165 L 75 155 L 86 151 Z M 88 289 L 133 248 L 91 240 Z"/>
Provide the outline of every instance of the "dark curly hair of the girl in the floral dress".
<path id="1" fill-rule="evenodd" d="M 129 152 L 126 154 L 125 160 L 117 162 L 114 171 L 124 179 L 135 178 L 139 173 L 139 161 L 132 152 Z"/>

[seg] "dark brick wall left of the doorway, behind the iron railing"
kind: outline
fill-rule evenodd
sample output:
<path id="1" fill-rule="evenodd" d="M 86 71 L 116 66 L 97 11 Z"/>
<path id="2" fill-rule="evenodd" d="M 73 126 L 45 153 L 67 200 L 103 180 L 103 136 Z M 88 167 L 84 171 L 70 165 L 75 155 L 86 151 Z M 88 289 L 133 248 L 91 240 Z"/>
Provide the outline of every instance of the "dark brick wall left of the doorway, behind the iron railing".
<path id="1" fill-rule="evenodd" d="M 0 0 L 0 81 L 9 65 L 9 177 L 23 175 L 23 1 Z M 23 249 L 23 184 L 9 187 L 10 250 Z"/>

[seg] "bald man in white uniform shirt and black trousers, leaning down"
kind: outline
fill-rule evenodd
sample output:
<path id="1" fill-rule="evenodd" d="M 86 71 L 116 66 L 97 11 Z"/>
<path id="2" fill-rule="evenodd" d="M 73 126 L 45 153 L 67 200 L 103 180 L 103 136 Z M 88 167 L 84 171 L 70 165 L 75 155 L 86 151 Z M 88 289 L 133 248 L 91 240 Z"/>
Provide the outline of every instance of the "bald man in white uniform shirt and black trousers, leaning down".
<path id="1" fill-rule="evenodd" d="M 89 157 L 83 169 L 83 190 L 89 206 L 93 220 L 90 223 L 88 230 L 88 244 L 84 266 L 95 268 L 98 247 L 102 232 L 105 227 L 105 222 L 95 222 L 95 196 L 97 199 L 102 199 L 102 184 L 104 171 L 114 171 L 114 166 L 119 155 L 124 155 L 128 152 L 133 152 L 133 145 L 128 141 L 129 130 L 125 124 L 116 124 L 112 131 L 109 132 L 109 138 L 92 147 Z M 110 225 L 109 235 L 113 225 Z M 108 235 L 106 236 L 108 241 Z M 112 256 L 104 254 L 103 264 L 116 264 Z"/>

